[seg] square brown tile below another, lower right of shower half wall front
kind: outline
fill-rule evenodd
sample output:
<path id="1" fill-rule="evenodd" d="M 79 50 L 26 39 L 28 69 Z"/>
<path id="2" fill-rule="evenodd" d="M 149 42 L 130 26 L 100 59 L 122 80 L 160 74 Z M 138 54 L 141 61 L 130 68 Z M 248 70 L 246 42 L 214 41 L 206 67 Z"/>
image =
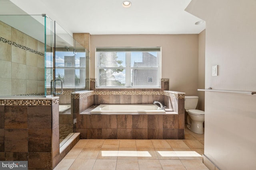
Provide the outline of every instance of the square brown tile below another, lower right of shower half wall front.
<path id="1" fill-rule="evenodd" d="M 51 152 L 52 129 L 28 129 L 28 152 Z"/>

